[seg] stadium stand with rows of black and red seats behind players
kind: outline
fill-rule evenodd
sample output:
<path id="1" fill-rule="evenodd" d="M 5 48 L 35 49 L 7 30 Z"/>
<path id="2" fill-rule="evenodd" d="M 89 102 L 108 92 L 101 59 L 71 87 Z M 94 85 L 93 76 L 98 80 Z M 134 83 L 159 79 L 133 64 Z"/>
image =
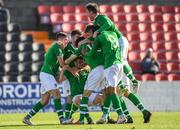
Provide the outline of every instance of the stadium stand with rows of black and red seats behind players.
<path id="1" fill-rule="evenodd" d="M 128 38 L 128 60 L 137 79 L 180 80 L 179 6 L 103 4 L 100 11 L 107 14 Z M 37 13 L 40 24 L 50 25 L 53 33 L 84 30 L 90 23 L 81 5 L 39 5 Z M 22 31 L 19 24 L 8 23 L 6 17 L 4 14 L 0 17 L 0 81 L 36 82 L 43 54 L 52 40 L 47 31 Z M 159 74 L 141 74 L 140 61 L 148 48 L 153 48 L 160 62 Z M 26 68 L 27 62 L 31 68 Z M 11 67 L 15 64 L 18 67 Z M 18 76 L 9 75 L 12 71 Z"/>

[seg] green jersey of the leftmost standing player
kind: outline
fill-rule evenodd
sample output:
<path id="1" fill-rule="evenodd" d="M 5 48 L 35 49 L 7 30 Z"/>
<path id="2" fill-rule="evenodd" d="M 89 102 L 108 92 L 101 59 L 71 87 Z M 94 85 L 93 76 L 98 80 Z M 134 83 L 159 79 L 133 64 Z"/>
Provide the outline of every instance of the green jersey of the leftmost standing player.
<path id="1" fill-rule="evenodd" d="M 60 66 L 57 56 L 63 56 L 63 50 L 61 49 L 60 45 L 53 43 L 45 54 L 41 72 L 56 76 Z"/>

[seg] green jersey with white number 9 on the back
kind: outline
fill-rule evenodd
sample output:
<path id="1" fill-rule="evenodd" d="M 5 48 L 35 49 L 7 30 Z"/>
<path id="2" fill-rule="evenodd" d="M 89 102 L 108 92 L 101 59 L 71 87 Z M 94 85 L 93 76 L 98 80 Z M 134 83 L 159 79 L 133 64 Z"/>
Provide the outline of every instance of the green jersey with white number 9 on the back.
<path id="1" fill-rule="evenodd" d="M 88 56 L 95 56 L 97 50 L 101 49 L 104 57 L 104 68 L 113 64 L 121 63 L 121 54 L 118 43 L 118 37 L 115 32 L 103 31 L 98 35 L 93 43 L 92 49 Z"/>

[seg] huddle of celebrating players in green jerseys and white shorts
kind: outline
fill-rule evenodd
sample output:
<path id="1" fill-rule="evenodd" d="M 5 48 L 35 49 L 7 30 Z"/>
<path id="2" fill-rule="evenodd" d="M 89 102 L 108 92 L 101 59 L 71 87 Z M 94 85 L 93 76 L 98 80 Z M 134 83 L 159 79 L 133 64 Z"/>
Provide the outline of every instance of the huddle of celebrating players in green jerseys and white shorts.
<path id="1" fill-rule="evenodd" d="M 127 39 L 106 15 L 99 13 L 96 3 L 87 4 L 86 10 L 93 23 L 86 26 L 84 34 L 73 30 L 72 42 L 66 33 L 56 34 L 57 41 L 46 52 L 40 72 L 41 100 L 24 117 L 23 123 L 32 125 L 30 119 L 49 103 L 51 95 L 61 124 L 85 124 L 85 120 L 94 124 L 88 111 L 94 105 L 102 108 L 102 117 L 96 124 L 133 123 L 124 97 L 142 112 L 144 123 L 150 121 L 152 114 L 135 94 L 140 82 L 127 61 Z M 58 83 L 70 89 L 65 111 Z M 110 116 L 111 107 L 117 112 L 117 120 Z M 77 110 L 79 119 L 73 121 L 72 115 Z"/>

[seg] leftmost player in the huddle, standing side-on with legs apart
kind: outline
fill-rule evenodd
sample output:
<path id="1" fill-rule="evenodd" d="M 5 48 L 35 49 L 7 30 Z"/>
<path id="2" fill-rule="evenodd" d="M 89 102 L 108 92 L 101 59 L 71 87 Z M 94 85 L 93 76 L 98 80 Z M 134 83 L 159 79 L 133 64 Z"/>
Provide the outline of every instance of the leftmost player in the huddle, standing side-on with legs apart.
<path id="1" fill-rule="evenodd" d="M 64 119 L 60 92 L 55 79 L 59 67 L 65 65 L 63 60 L 63 50 L 67 46 L 67 34 L 60 32 L 56 35 L 57 41 L 51 45 L 45 54 L 45 60 L 40 72 L 41 100 L 34 105 L 31 111 L 23 118 L 23 123 L 32 125 L 30 119 L 49 103 L 50 96 L 54 97 L 54 105 L 60 123 Z"/>

